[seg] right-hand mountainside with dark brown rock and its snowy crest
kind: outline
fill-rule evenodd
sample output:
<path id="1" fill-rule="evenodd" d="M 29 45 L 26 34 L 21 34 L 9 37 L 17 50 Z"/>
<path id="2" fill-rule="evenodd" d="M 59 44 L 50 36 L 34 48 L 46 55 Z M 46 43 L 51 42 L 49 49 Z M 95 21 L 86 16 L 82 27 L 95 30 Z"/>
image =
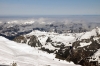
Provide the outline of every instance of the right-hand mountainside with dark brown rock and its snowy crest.
<path id="1" fill-rule="evenodd" d="M 73 61 L 75 64 L 81 64 L 82 66 L 99 66 L 100 54 L 94 57 L 94 54 L 97 53 L 99 49 L 100 29 L 96 28 L 84 33 L 80 38 L 77 38 L 71 47 L 65 46 L 60 48 L 56 54 L 56 58 Z"/>

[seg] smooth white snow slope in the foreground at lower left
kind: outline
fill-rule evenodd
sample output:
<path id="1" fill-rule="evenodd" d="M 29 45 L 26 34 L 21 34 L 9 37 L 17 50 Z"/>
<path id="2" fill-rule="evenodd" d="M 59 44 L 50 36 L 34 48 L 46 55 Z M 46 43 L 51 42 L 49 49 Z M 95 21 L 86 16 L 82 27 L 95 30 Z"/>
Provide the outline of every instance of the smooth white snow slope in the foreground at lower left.
<path id="1" fill-rule="evenodd" d="M 0 36 L 0 65 L 10 65 L 13 61 L 18 66 L 76 66 L 72 62 L 55 59 L 54 54 Z"/>

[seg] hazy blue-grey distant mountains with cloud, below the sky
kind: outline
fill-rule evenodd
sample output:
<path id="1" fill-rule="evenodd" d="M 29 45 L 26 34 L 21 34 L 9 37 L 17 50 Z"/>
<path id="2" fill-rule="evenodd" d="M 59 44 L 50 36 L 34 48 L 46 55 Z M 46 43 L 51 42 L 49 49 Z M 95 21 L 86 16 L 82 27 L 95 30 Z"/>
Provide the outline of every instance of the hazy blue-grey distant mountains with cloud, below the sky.
<path id="1" fill-rule="evenodd" d="M 72 17 L 71 17 L 72 18 Z M 99 20 L 91 17 L 91 20 L 72 18 L 35 18 L 35 19 L 1 19 L 0 35 L 8 39 L 14 39 L 15 36 L 27 34 L 33 30 L 56 32 L 56 33 L 81 33 L 90 31 L 97 26 L 100 27 Z M 87 17 L 89 18 L 89 17 Z"/>

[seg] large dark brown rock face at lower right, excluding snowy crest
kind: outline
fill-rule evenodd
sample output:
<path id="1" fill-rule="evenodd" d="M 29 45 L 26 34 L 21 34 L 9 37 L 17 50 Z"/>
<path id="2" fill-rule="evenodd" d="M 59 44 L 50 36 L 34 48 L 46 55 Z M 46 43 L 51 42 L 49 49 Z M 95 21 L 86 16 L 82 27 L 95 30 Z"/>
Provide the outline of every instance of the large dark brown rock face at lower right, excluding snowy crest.
<path id="1" fill-rule="evenodd" d="M 92 36 L 90 39 L 75 41 L 72 47 L 61 47 L 56 53 L 56 58 L 73 61 L 75 64 L 81 64 L 82 66 L 92 66 L 87 58 L 91 57 L 100 48 L 100 37 L 96 37 L 99 38 L 97 40 L 94 40 L 94 38 L 95 37 Z M 80 47 L 81 42 L 91 42 L 91 44 Z"/>

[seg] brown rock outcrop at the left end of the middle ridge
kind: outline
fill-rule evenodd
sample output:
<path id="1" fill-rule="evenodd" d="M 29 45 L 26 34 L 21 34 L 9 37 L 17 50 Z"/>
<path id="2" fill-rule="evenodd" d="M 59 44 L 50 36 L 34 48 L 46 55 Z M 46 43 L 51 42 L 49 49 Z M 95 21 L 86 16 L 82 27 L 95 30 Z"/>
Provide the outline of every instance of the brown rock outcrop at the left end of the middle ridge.
<path id="1" fill-rule="evenodd" d="M 32 36 L 18 36 L 14 39 L 18 43 L 26 43 L 32 47 L 40 47 L 42 44 L 35 35 Z"/>

